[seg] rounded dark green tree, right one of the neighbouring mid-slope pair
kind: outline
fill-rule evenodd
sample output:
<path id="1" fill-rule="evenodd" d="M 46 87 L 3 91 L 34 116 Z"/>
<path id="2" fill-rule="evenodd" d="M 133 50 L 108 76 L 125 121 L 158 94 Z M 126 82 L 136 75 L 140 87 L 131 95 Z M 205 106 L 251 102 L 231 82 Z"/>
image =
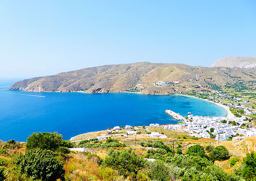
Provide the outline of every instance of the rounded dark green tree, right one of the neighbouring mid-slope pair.
<path id="1" fill-rule="evenodd" d="M 229 159 L 229 151 L 223 145 L 216 146 L 209 154 L 213 160 L 224 161 Z"/>

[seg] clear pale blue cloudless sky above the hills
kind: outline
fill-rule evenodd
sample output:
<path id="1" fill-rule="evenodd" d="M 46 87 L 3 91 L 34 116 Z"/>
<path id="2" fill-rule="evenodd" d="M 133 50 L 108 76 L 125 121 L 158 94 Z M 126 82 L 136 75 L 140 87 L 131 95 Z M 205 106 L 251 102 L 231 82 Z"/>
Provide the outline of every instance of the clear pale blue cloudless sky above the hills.
<path id="1" fill-rule="evenodd" d="M 1 1 L 0 77 L 256 56 L 256 1 Z"/>

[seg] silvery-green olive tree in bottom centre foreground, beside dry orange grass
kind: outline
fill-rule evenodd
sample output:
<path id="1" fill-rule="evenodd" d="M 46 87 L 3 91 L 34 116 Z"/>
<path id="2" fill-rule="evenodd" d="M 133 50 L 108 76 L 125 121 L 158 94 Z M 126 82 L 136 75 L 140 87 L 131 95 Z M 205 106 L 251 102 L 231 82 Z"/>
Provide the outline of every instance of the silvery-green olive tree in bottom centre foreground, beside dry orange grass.
<path id="1" fill-rule="evenodd" d="M 132 149 L 121 152 L 110 149 L 108 156 L 104 159 L 104 165 L 118 170 L 125 178 L 128 175 L 137 175 L 138 171 L 144 168 L 145 160 L 139 157 Z"/>

